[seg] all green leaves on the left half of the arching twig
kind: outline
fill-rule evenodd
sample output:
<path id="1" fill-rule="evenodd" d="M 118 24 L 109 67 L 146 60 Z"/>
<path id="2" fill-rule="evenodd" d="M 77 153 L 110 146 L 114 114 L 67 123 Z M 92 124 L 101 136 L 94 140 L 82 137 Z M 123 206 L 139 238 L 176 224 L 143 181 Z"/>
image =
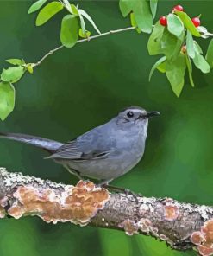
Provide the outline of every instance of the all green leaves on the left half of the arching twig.
<path id="1" fill-rule="evenodd" d="M 91 32 L 85 29 L 85 19 L 91 22 L 93 28 L 98 34 L 101 32 L 97 29 L 95 22 L 91 19 L 85 10 L 78 9 L 78 6 L 71 4 L 68 0 L 53 1 L 47 3 L 47 0 L 39 0 L 31 5 L 28 14 L 39 10 L 36 17 L 35 25 L 41 26 L 49 21 L 60 10 L 67 10 L 68 14 L 63 17 L 60 29 L 60 42 L 66 48 L 72 48 L 78 41 L 78 37 L 89 38 Z M 3 69 L 0 80 L 0 119 L 4 120 L 13 111 L 16 99 L 16 90 L 13 86 L 20 80 L 23 74 L 28 71 L 33 74 L 35 63 L 26 64 L 20 59 L 9 59 L 9 64 L 15 67 Z"/>

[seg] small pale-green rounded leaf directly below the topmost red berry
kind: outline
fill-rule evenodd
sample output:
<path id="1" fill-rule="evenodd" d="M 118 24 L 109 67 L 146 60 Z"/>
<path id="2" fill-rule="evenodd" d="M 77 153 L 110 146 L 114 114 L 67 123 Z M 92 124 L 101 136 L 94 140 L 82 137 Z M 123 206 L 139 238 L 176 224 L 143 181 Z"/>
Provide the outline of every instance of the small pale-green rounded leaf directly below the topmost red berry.
<path id="1" fill-rule="evenodd" d="M 179 16 L 176 16 L 173 13 L 171 13 L 167 16 L 167 21 L 167 28 L 169 32 L 172 33 L 172 35 L 179 37 L 183 34 L 185 27 L 183 22 L 180 20 Z"/>

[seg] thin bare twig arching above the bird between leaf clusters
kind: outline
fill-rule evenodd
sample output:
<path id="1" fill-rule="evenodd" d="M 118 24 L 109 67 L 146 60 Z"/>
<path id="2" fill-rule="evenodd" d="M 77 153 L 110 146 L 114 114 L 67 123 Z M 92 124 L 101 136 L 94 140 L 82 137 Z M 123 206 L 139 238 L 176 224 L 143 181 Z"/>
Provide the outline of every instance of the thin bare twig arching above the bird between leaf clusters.
<path id="1" fill-rule="evenodd" d="M 99 35 L 92 35 L 88 38 L 85 38 L 85 39 L 81 39 L 81 40 L 78 40 L 77 43 L 79 42 L 89 42 L 91 41 L 92 39 L 96 39 L 98 37 L 102 37 L 104 35 L 111 35 L 111 34 L 116 34 L 116 33 L 120 33 L 120 32 L 123 32 L 123 31 L 128 31 L 128 30 L 133 30 L 135 29 L 135 27 L 128 27 L 128 28 L 124 28 L 124 29 L 116 29 L 116 30 L 110 30 L 108 32 L 105 32 L 105 33 L 102 33 L 102 34 L 99 34 Z M 50 50 L 47 54 L 45 54 L 40 61 L 37 61 L 36 63 L 34 63 L 33 67 L 36 67 L 36 66 L 39 66 L 41 64 L 42 61 L 44 61 L 49 55 L 59 51 L 61 48 L 64 48 L 63 45 L 60 45 L 59 47 L 57 48 L 53 48 L 52 50 Z"/>

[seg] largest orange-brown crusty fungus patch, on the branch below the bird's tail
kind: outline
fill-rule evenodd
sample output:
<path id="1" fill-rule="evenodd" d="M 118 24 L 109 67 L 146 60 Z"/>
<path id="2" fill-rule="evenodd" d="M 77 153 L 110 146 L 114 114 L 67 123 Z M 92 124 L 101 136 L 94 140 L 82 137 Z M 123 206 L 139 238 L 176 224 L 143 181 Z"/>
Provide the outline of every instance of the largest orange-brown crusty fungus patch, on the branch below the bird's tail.
<path id="1" fill-rule="evenodd" d="M 70 221 L 81 226 L 88 224 L 110 200 L 106 189 L 84 181 L 79 181 L 75 187 L 67 185 L 57 194 L 53 189 L 21 186 L 13 196 L 16 201 L 12 203 L 8 213 L 16 219 L 22 215 L 34 214 L 47 222 Z"/>

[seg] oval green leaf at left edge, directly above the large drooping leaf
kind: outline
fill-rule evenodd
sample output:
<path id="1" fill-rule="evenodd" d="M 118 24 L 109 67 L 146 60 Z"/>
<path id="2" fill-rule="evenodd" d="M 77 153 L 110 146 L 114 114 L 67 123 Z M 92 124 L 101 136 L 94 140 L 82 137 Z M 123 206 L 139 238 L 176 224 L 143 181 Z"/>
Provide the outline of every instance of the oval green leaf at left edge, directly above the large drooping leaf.
<path id="1" fill-rule="evenodd" d="M 24 72 L 24 67 L 9 67 L 8 69 L 3 69 L 1 80 L 5 82 L 16 82 L 22 78 Z"/>

